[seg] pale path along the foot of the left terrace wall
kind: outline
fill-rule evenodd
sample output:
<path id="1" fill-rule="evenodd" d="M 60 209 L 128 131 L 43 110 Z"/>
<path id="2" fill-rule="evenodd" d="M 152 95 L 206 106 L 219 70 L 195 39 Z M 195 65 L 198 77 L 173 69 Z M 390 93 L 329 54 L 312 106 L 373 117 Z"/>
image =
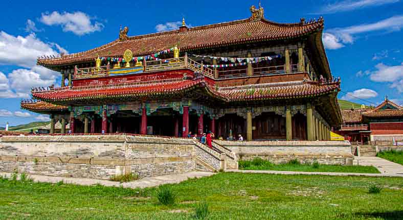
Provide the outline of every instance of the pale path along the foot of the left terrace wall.
<path id="1" fill-rule="evenodd" d="M 0 176 L 11 177 L 11 173 L 1 173 Z M 200 177 L 208 177 L 214 175 L 211 172 L 189 172 L 185 174 L 176 174 L 176 175 L 166 175 L 159 177 L 148 177 L 140 180 L 135 180 L 126 183 L 119 183 L 115 181 L 109 180 L 95 180 L 95 179 L 85 179 L 85 178 L 69 178 L 69 177 L 51 177 L 51 176 L 43 176 L 43 175 L 29 175 L 36 182 L 47 182 L 47 183 L 57 183 L 63 181 L 64 183 L 78 184 L 78 185 L 94 185 L 101 184 L 103 186 L 116 186 L 116 187 L 125 187 L 125 188 L 146 188 L 146 187 L 154 187 L 167 183 L 180 183 L 189 178 L 200 178 Z"/>

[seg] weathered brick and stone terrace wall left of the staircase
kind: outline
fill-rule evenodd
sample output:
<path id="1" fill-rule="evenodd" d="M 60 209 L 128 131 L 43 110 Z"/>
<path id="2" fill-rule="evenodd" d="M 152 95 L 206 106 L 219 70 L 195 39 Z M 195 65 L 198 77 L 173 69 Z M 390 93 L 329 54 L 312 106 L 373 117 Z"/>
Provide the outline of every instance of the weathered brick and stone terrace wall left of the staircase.
<path id="1" fill-rule="evenodd" d="M 0 138 L 0 171 L 109 179 L 140 178 L 195 170 L 190 139 L 126 135 L 5 136 Z"/>

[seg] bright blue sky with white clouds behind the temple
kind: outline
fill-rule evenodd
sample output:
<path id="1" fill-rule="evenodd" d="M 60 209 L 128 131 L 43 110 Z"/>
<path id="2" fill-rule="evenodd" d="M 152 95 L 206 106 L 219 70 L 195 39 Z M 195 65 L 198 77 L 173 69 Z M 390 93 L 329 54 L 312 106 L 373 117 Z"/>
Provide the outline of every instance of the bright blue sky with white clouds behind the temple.
<path id="1" fill-rule="evenodd" d="M 48 121 L 20 109 L 35 86 L 60 86 L 60 74 L 36 65 L 42 55 L 78 53 L 128 36 L 244 19 L 258 1 L 15 1 L 0 13 L 0 127 Z M 325 19 L 323 42 L 339 99 L 376 105 L 387 95 L 403 104 L 403 0 L 262 0 L 276 22 Z"/>

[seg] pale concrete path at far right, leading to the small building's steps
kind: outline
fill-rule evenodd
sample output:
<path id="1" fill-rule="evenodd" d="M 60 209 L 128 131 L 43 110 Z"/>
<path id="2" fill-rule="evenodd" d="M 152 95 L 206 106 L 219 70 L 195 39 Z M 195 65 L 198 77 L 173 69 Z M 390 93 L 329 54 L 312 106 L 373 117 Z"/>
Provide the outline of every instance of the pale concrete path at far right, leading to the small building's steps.
<path id="1" fill-rule="evenodd" d="M 382 174 L 403 175 L 403 166 L 380 157 L 355 157 L 358 165 L 375 166 Z"/>

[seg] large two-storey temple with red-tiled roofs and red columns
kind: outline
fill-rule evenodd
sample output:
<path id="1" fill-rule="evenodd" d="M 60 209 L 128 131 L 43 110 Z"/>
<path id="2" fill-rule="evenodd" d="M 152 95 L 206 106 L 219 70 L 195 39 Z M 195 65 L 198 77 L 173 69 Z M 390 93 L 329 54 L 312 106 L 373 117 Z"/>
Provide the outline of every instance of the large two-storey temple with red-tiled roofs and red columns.
<path id="1" fill-rule="evenodd" d="M 262 7 L 215 25 L 127 36 L 89 51 L 38 58 L 60 87 L 33 88 L 21 108 L 49 114 L 51 133 L 189 132 L 247 140 L 330 140 L 342 123 L 340 79 L 322 43 L 324 20 L 277 23 Z"/>

